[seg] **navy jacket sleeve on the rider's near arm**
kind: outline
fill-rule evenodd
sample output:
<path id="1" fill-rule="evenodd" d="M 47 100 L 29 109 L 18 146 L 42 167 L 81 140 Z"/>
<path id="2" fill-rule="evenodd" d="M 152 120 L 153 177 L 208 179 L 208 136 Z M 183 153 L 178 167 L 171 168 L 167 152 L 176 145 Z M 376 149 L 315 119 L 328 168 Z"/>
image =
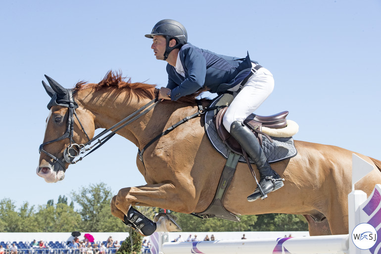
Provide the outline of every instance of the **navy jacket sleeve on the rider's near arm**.
<path id="1" fill-rule="evenodd" d="M 205 82 L 206 60 L 202 53 L 194 48 L 188 48 L 184 53 L 186 79 L 179 86 L 172 89 L 172 101 L 177 101 L 180 97 L 195 93 L 202 88 Z"/>

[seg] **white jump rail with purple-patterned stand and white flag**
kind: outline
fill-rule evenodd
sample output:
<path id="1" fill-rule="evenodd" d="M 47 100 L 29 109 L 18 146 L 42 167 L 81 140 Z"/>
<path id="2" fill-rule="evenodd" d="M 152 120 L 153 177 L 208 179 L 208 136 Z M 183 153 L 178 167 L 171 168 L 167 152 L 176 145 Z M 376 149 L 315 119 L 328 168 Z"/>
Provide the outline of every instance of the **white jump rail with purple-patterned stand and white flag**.
<path id="1" fill-rule="evenodd" d="M 375 186 L 367 199 L 354 184 L 374 169 L 373 165 L 352 155 L 352 192 L 348 195 L 349 232 L 347 235 L 285 237 L 277 239 L 169 242 L 168 233 L 155 232 L 150 237 L 152 254 L 381 254 L 381 239 L 376 238 L 368 250 L 357 248 L 352 241 L 353 229 L 372 225 L 381 233 L 381 185 Z M 377 236 L 377 235 L 376 235 Z"/>

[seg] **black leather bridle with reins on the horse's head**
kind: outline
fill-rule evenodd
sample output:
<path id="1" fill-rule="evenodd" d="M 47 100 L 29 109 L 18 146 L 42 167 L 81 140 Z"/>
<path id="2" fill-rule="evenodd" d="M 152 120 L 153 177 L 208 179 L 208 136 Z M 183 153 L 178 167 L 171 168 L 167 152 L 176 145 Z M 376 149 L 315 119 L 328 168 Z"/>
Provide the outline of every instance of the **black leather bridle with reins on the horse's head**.
<path id="1" fill-rule="evenodd" d="M 118 123 L 116 123 L 115 125 L 113 125 L 112 127 L 108 128 L 106 130 L 103 130 L 101 133 L 96 135 L 93 139 L 90 139 L 89 135 L 86 133 L 80 119 L 78 118 L 78 116 L 75 112 L 75 109 L 78 108 L 78 104 L 73 99 L 73 90 L 68 89 L 67 92 L 68 92 L 68 99 L 57 98 L 57 94 L 54 94 L 54 96 L 52 97 L 52 100 L 51 100 L 51 102 L 52 101 L 53 102 L 49 103 L 51 105 L 59 104 L 61 106 L 68 107 L 69 116 L 67 118 L 66 132 L 59 138 L 56 138 L 54 140 L 51 140 L 51 141 L 48 141 L 48 142 L 41 144 L 40 148 L 39 148 L 40 153 L 44 152 L 45 154 L 50 156 L 52 159 L 57 161 L 63 167 L 64 171 L 66 171 L 65 162 L 70 163 L 70 164 L 75 164 L 78 161 L 82 160 L 84 157 L 86 157 L 90 153 L 94 152 L 96 149 L 98 149 L 100 146 L 102 146 L 104 143 L 106 143 L 112 136 L 115 135 L 115 133 L 117 131 L 124 128 L 128 124 L 132 123 L 133 121 L 135 121 L 136 119 L 141 117 L 143 114 L 150 111 L 158 102 L 160 102 L 157 99 L 153 99 L 152 101 L 148 102 L 143 107 L 141 107 L 140 109 L 136 110 L 135 112 L 133 112 L 132 114 L 130 114 L 129 116 L 124 118 L 123 120 L 121 120 Z M 59 103 L 56 102 L 57 100 Z M 85 135 L 88 139 L 88 142 L 86 142 L 85 144 L 77 144 L 73 140 L 74 116 L 77 118 L 78 123 L 80 124 L 82 131 L 85 133 Z M 63 159 L 59 159 L 56 156 L 54 156 L 53 154 L 44 150 L 45 145 L 48 145 L 48 144 L 51 144 L 51 143 L 54 143 L 57 141 L 61 141 L 64 139 L 69 139 L 70 143 L 69 143 L 68 147 L 63 151 Z M 91 146 L 91 144 L 94 141 L 96 141 L 96 143 L 93 146 Z M 89 147 L 89 146 L 91 146 L 91 147 Z M 86 152 L 88 152 L 88 153 L 86 153 Z M 84 156 L 78 158 L 77 160 L 74 160 L 75 157 L 77 157 L 83 153 L 86 153 L 86 154 Z"/>

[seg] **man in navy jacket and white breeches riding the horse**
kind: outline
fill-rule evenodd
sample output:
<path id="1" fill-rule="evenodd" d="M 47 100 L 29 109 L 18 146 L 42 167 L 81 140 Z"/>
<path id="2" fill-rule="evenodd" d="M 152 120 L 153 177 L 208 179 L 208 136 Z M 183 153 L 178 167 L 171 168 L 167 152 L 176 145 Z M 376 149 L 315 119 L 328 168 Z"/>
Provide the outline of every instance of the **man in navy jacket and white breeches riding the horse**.
<path id="1" fill-rule="evenodd" d="M 176 101 L 202 88 L 219 94 L 237 92 L 242 81 L 248 78 L 226 110 L 223 124 L 255 162 L 264 195 L 281 188 L 282 178 L 270 167 L 255 135 L 243 124 L 273 91 L 271 72 L 251 61 L 248 54 L 245 58 L 231 57 L 191 45 L 187 30 L 175 20 L 159 21 L 145 37 L 153 39 L 151 49 L 156 59 L 168 62 L 168 84 L 160 89 L 159 99 Z M 260 197 L 264 198 L 257 187 L 247 200 L 251 202 Z"/>

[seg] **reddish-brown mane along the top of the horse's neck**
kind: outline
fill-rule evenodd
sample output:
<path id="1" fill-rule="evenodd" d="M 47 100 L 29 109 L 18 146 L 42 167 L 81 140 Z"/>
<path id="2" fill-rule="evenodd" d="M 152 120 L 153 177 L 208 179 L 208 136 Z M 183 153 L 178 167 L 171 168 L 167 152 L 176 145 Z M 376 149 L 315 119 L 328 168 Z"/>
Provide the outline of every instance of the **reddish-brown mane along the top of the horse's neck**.
<path id="1" fill-rule="evenodd" d="M 132 83 L 131 78 L 122 77 L 121 72 L 113 72 L 111 70 L 106 73 L 104 78 L 99 83 L 91 84 L 85 81 L 80 81 L 75 85 L 74 90 L 81 91 L 87 88 L 92 88 L 95 91 L 98 91 L 102 88 L 111 87 L 129 90 L 132 94 L 136 95 L 137 97 L 146 97 L 148 99 L 154 99 L 159 91 L 159 89 L 157 89 L 155 85 L 145 83 Z M 196 97 L 205 91 L 206 90 L 200 90 L 192 95 L 184 96 L 180 98 L 177 102 L 194 102 Z M 165 100 L 165 102 L 170 101 Z"/>

